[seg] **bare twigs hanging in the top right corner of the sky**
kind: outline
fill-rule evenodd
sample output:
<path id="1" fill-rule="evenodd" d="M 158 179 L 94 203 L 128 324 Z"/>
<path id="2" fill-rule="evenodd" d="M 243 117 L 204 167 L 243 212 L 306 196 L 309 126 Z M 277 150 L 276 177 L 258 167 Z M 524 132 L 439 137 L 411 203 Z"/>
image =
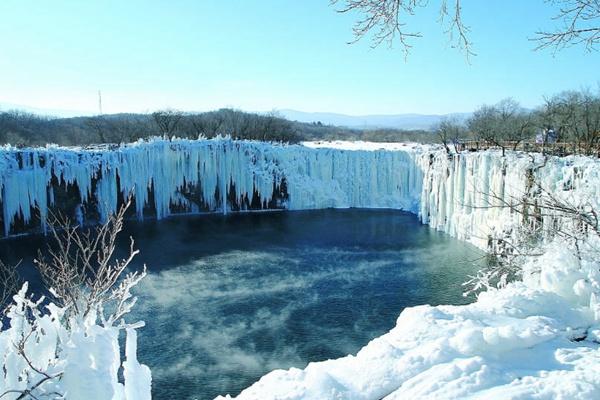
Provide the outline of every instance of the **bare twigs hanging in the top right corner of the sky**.
<path id="1" fill-rule="evenodd" d="M 536 49 L 553 48 L 554 51 L 583 45 L 588 51 L 600 43 L 600 0 L 546 0 L 558 5 L 553 20 L 560 26 L 549 31 L 538 31 L 533 40 Z"/>

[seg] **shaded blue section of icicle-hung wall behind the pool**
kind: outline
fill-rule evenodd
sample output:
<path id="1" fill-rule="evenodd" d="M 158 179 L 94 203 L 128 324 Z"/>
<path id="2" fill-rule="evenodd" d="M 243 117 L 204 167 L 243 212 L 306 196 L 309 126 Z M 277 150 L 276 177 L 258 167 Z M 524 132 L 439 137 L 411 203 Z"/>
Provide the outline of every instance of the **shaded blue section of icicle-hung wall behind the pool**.
<path id="1" fill-rule="evenodd" d="M 37 208 L 42 229 L 55 190 L 75 185 L 79 201 L 95 204 L 100 219 L 131 193 L 138 216 L 150 205 L 157 218 L 175 207 L 227 212 L 252 199 L 261 208 L 391 207 L 416 212 L 421 169 L 414 146 L 350 151 L 254 141 L 162 140 L 114 149 L 47 147 L 0 149 L 0 202 L 4 231 L 28 223 Z M 57 188 L 56 186 L 59 186 Z M 182 193 L 186 189 L 186 195 Z M 286 196 L 274 192 L 285 191 Z M 190 195 L 190 193 L 192 195 Z M 122 198 L 122 197 L 121 197 Z M 149 204 L 152 203 L 152 204 Z M 71 211 L 71 210 L 69 210 Z M 81 218 L 81 209 L 72 210 Z"/>

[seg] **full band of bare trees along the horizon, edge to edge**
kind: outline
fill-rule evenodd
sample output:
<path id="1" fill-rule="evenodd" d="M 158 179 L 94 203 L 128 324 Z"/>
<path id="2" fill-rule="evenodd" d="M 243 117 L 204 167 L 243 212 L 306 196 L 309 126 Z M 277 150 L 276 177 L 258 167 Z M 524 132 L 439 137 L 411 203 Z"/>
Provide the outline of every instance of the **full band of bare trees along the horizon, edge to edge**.
<path id="1" fill-rule="evenodd" d="M 552 133 L 552 137 L 549 133 Z M 127 143 L 153 136 L 196 139 L 215 136 L 297 143 L 302 140 L 364 140 L 442 143 L 459 151 L 465 141 L 517 149 L 542 137 L 559 142 L 570 153 L 596 154 L 600 148 L 600 89 L 565 91 L 526 109 L 512 98 L 482 105 L 466 120 L 443 119 L 431 130 L 352 129 L 289 121 L 275 113 L 254 114 L 233 109 L 204 113 L 159 110 L 150 114 L 111 114 L 52 118 L 19 110 L 0 112 L 0 144 L 65 146 Z M 551 140 L 550 140 L 551 139 Z"/>

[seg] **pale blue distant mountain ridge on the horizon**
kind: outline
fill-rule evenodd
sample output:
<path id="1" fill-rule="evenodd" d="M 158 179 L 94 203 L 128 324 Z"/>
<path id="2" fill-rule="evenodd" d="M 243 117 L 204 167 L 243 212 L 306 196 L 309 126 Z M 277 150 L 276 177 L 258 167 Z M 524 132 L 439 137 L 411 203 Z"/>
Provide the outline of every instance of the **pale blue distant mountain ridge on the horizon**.
<path id="1" fill-rule="evenodd" d="M 344 126 L 355 129 L 396 128 L 429 130 L 443 118 L 455 117 L 466 120 L 470 113 L 454 114 L 396 114 L 396 115 L 345 115 L 326 112 L 304 112 L 297 110 L 277 110 L 284 118 L 298 122 L 321 122 L 325 125 Z"/>

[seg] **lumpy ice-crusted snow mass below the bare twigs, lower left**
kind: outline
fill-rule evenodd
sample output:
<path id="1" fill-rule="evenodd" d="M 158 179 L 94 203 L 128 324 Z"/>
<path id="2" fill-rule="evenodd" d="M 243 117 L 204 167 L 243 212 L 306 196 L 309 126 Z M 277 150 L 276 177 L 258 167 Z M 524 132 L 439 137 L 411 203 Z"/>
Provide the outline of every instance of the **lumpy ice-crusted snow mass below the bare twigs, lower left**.
<path id="1" fill-rule="evenodd" d="M 20 398 L 26 390 L 32 398 L 151 398 L 150 370 L 137 361 L 133 326 L 126 329 L 126 361 L 121 363 L 121 327 L 97 325 L 92 316 L 71 320 L 67 328 L 64 310 L 50 304 L 42 313 L 41 301 L 32 302 L 26 292 L 25 284 L 14 296 L 8 328 L 0 332 L 3 399 Z M 121 366 L 124 379 L 119 381 Z"/>

